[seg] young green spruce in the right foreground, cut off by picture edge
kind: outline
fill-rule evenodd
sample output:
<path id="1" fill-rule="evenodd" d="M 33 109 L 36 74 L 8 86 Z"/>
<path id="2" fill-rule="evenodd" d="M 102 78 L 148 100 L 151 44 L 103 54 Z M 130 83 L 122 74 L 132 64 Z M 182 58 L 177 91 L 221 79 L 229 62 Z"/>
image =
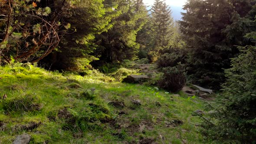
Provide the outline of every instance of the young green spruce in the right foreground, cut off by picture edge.
<path id="1" fill-rule="evenodd" d="M 232 59 L 232 68 L 225 71 L 228 78 L 223 94 L 216 99 L 216 112 L 211 116 L 216 125 L 208 132 L 214 138 L 233 143 L 256 142 L 256 47 L 240 47 L 241 54 Z"/>

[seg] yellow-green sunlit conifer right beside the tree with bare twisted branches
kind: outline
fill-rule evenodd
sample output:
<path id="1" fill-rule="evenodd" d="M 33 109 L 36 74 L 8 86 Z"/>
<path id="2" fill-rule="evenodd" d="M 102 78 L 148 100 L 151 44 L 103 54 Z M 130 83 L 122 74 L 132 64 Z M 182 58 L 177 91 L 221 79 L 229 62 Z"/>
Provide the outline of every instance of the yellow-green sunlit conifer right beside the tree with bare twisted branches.
<path id="1" fill-rule="evenodd" d="M 115 3 L 109 0 L 80 0 L 70 8 L 70 16 L 65 21 L 71 24 L 59 44 L 59 49 L 44 59 L 44 65 L 51 69 L 86 72 L 97 60 L 93 51 L 97 48 L 95 35 L 108 31 L 113 26 L 111 20 L 120 13 L 115 11 Z"/>

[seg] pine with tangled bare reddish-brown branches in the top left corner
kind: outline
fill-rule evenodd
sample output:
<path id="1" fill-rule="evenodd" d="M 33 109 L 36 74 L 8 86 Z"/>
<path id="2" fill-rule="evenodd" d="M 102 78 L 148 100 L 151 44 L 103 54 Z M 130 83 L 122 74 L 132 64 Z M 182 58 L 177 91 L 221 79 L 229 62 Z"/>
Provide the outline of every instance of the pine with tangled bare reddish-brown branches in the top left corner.
<path id="1" fill-rule="evenodd" d="M 38 62 L 55 49 L 69 29 L 62 20 L 72 0 L 2 0 L 0 59 Z"/>

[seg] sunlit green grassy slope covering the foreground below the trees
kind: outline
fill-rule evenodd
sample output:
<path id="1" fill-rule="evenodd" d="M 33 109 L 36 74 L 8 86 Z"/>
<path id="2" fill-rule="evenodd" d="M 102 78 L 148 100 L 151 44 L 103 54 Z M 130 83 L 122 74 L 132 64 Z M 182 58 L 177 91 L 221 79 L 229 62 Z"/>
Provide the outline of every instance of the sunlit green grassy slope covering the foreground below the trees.
<path id="1" fill-rule="evenodd" d="M 62 76 L 33 65 L 0 67 L 0 95 L 7 94 L 0 103 L 0 141 L 9 144 L 27 133 L 32 136 L 31 144 L 123 144 L 145 138 L 158 144 L 210 143 L 195 126 L 200 118 L 191 115 L 202 108 L 200 100 L 195 99 L 197 103 L 144 85 L 104 82 L 109 79 L 99 73 Z M 91 88 L 95 88 L 92 97 L 82 94 Z M 26 104 L 17 102 L 14 108 L 4 108 L 17 98 L 26 101 L 28 95 L 42 105 L 39 111 L 18 111 Z M 141 105 L 133 105 L 133 99 L 141 100 Z M 123 101 L 125 107 L 108 105 L 111 101 Z M 125 114 L 118 115 L 120 111 Z M 30 122 L 41 124 L 31 130 L 14 130 Z"/>

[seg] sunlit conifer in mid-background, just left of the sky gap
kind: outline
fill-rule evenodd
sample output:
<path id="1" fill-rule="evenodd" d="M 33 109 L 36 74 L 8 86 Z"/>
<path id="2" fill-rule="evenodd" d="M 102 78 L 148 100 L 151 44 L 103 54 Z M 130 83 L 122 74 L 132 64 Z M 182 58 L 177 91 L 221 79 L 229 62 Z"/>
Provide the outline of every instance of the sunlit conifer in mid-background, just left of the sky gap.
<path id="1" fill-rule="evenodd" d="M 146 7 L 142 0 L 114 0 L 115 9 L 120 16 L 111 23 L 112 29 L 97 36 L 99 46 L 95 54 L 105 62 L 118 62 L 123 59 L 134 59 L 139 45 L 136 43 L 138 31 L 146 23 Z"/>

